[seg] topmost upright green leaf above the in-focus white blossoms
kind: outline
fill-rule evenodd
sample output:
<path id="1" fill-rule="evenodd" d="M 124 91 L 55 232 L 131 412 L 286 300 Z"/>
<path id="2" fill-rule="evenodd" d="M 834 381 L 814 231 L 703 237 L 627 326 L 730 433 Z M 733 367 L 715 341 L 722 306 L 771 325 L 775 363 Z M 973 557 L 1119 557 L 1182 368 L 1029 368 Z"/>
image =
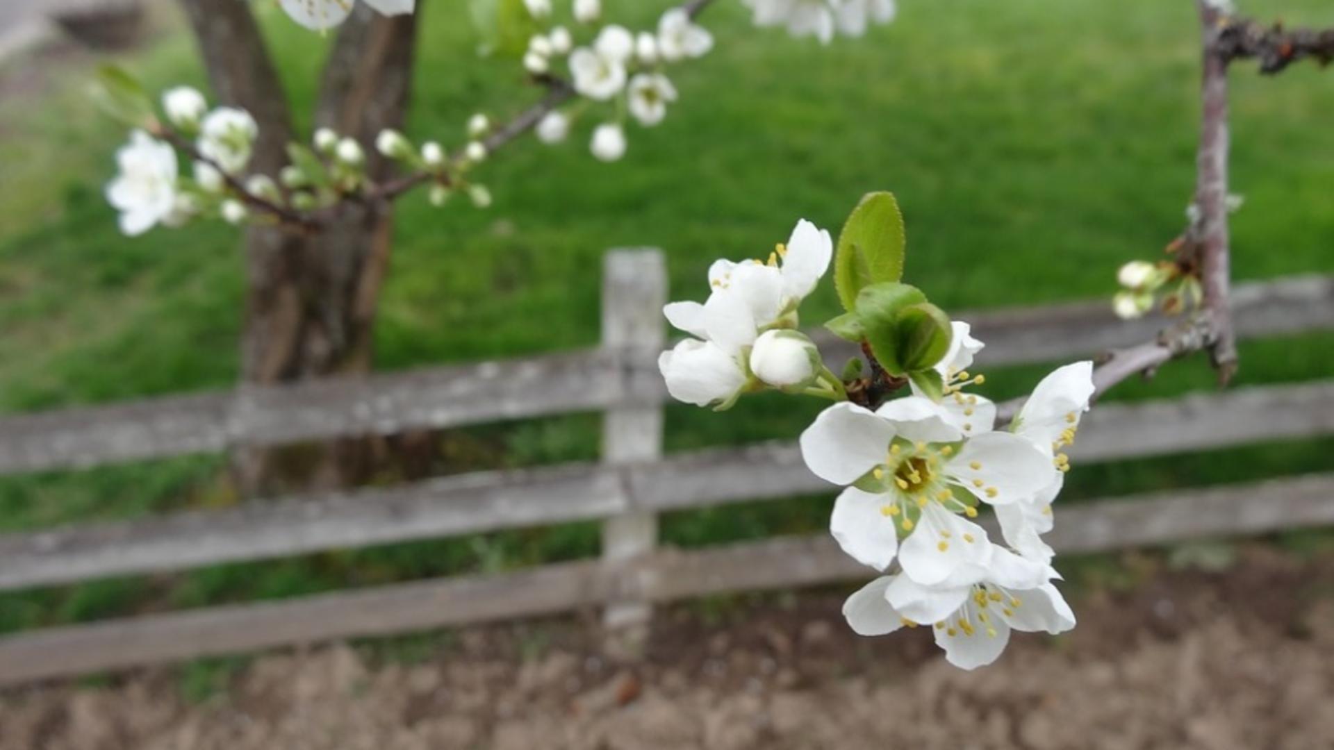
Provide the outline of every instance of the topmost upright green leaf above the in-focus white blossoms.
<path id="1" fill-rule="evenodd" d="M 903 215 L 894 195 L 868 192 L 838 236 L 834 286 L 843 308 L 856 307 L 863 287 L 903 278 Z"/>

